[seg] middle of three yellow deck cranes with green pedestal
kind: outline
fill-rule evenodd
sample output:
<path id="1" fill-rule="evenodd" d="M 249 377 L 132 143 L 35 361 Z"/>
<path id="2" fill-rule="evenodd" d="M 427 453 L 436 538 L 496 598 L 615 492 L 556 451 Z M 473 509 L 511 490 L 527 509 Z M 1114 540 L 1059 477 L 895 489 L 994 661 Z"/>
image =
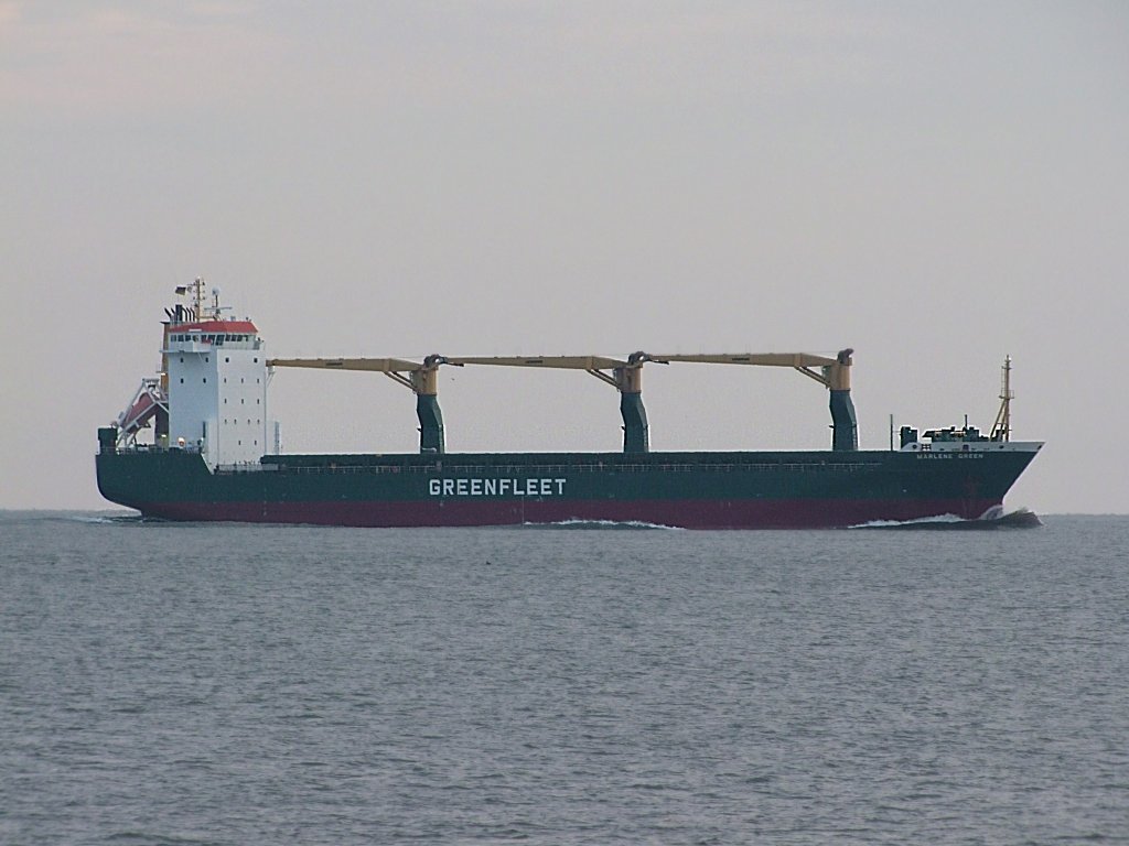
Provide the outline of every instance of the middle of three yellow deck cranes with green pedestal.
<path id="1" fill-rule="evenodd" d="M 620 391 L 620 415 L 623 417 L 623 451 L 647 452 L 650 437 L 647 409 L 642 404 L 642 365 L 651 361 L 645 352 L 633 352 L 627 360 L 602 355 L 542 355 L 542 356 L 453 356 L 448 363 L 492 364 L 496 367 L 543 368 L 555 370 L 584 370 Z"/>

